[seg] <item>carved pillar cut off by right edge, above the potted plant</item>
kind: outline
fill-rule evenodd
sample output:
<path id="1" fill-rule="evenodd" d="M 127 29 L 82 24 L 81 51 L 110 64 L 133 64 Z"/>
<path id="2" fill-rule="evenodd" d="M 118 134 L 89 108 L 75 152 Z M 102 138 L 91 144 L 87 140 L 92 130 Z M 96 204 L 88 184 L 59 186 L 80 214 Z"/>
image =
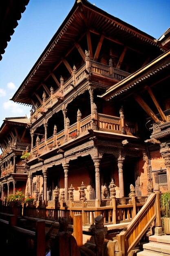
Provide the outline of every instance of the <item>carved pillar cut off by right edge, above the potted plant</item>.
<path id="1" fill-rule="evenodd" d="M 168 191 L 170 192 L 170 146 L 164 142 L 160 144 L 160 153 L 165 160 Z"/>

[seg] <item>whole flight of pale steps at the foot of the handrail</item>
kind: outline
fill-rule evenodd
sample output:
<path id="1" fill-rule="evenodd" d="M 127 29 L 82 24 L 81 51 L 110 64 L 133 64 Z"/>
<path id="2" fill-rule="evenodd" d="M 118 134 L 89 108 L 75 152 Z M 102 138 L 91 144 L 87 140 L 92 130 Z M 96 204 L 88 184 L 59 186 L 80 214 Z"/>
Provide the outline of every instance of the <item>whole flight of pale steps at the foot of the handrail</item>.
<path id="1" fill-rule="evenodd" d="M 137 256 L 170 256 L 170 236 L 150 236 L 149 242 L 143 244 L 143 251 Z"/>

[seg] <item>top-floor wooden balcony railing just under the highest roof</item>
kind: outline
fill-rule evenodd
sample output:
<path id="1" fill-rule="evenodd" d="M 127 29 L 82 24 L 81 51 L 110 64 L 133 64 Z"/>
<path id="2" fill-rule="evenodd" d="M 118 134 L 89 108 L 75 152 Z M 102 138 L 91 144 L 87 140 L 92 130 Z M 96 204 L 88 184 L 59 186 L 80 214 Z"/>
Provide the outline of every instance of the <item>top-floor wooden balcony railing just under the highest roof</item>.
<path id="1" fill-rule="evenodd" d="M 92 75 L 114 79 L 117 82 L 130 75 L 128 72 L 95 61 L 90 61 L 90 68 Z M 38 107 L 35 112 L 33 112 L 30 118 L 31 123 L 45 115 L 48 109 L 51 108 L 55 103 L 62 101 L 68 92 L 73 90 L 75 87 L 78 87 L 84 79 L 88 78 L 88 76 L 87 64 L 84 63 L 84 65 L 82 65 L 82 67 L 77 70 L 66 82 L 61 82 L 60 88 L 58 88 L 55 92 L 51 92 L 50 97 L 45 99 L 43 104 Z"/>

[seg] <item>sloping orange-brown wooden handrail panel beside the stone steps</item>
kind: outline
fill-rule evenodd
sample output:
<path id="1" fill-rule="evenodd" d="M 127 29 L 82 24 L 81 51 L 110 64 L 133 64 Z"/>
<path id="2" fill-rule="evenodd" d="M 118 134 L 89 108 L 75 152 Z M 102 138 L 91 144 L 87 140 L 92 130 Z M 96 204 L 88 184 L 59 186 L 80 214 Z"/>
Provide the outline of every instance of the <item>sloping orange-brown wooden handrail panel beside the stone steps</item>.
<path id="1" fill-rule="evenodd" d="M 156 219 L 156 197 L 156 193 L 151 194 L 135 218 L 117 235 L 119 249 L 119 254 L 117 255 L 129 255 Z"/>

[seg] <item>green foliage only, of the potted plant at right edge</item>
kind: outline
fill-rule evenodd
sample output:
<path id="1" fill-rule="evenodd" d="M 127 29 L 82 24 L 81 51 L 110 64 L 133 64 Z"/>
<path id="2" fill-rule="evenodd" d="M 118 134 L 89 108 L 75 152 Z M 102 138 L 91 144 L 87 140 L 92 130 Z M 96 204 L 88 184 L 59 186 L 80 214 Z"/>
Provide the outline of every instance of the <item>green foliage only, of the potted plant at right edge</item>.
<path id="1" fill-rule="evenodd" d="M 170 218 L 170 192 L 166 191 L 160 196 L 160 206 L 162 209 L 162 217 Z"/>

